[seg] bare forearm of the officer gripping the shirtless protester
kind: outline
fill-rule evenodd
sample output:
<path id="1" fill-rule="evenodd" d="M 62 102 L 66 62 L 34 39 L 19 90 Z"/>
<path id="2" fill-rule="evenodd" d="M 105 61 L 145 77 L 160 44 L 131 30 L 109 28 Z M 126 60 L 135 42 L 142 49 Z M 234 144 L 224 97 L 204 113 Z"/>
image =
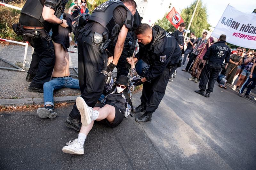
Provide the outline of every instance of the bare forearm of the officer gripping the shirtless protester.
<path id="1" fill-rule="evenodd" d="M 51 8 L 49 8 L 47 6 L 44 6 L 43 13 L 42 13 L 43 19 L 45 21 L 51 22 L 53 24 L 60 24 L 62 27 L 68 27 L 67 21 L 63 20 L 63 23 L 62 23 L 62 19 L 57 18 L 54 15 L 54 12 L 55 11 L 53 9 L 51 9 Z"/>

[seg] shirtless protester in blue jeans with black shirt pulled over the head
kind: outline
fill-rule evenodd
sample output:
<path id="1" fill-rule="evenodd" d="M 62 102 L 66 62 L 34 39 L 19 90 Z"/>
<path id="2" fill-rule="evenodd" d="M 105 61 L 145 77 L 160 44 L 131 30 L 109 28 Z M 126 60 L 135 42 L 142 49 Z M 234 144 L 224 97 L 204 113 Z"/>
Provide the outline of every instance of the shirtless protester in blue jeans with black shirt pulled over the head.
<path id="1" fill-rule="evenodd" d="M 67 14 L 64 14 L 65 20 L 67 20 L 68 27 L 64 28 L 60 25 L 56 25 L 52 28 L 52 40 L 54 41 L 55 50 L 55 65 L 52 72 L 52 79 L 44 83 L 44 107 L 37 109 L 37 114 L 40 118 L 54 119 L 57 113 L 53 111 L 53 91 L 61 89 L 63 87 L 71 89 L 79 89 L 79 83 L 77 79 L 70 77 L 69 73 L 69 33 L 72 31 L 70 12 L 75 7 L 71 6 Z"/>

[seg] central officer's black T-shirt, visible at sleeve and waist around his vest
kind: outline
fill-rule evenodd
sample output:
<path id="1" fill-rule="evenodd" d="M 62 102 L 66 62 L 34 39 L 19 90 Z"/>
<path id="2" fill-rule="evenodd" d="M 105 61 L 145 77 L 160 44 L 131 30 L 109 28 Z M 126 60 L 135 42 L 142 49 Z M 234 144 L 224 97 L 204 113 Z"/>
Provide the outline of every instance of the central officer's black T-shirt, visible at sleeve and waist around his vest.
<path id="1" fill-rule="evenodd" d="M 127 16 L 127 12 L 122 6 L 118 6 L 113 12 L 113 18 L 115 20 L 115 24 L 120 25 L 120 28 L 122 28 L 123 23 L 126 19 L 126 16 Z M 111 27 L 114 27 L 114 26 L 115 25 Z M 95 31 L 99 34 L 102 34 L 103 32 L 107 31 L 102 25 L 93 21 L 89 21 L 84 27 L 86 30 Z"/>

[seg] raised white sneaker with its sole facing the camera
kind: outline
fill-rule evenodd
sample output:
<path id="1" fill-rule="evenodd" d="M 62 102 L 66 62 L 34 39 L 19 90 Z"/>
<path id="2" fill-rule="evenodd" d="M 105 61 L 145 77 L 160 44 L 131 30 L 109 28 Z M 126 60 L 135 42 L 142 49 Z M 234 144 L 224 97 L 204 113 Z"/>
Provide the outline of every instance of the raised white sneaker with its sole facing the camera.
<path id="1" fill-rule="evenodd" d="M 82 125 L 88 126 L 92 122 L 93 109 L 85 103 L 82 97 L 76 98 L 76 106 L 81 115 Z"/>

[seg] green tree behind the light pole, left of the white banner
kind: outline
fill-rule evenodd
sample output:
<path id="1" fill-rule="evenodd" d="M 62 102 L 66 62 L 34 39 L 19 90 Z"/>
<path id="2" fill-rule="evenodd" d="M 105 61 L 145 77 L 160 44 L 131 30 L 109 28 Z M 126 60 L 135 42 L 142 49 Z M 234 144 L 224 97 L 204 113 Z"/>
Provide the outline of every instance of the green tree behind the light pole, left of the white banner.
<path id="1" fill-rule="evenodd" d="M 188 26 L 191 16 L 196 7 L 196 0 L 181 12 L 181 17 Z M 199 1 L 196 13 L 190 26 L 190 32 L 194 32 L 197 37 L 202 36 L 203 29 L 210 30 L 211 25 L 207 22 L 207 8 Z"/>

